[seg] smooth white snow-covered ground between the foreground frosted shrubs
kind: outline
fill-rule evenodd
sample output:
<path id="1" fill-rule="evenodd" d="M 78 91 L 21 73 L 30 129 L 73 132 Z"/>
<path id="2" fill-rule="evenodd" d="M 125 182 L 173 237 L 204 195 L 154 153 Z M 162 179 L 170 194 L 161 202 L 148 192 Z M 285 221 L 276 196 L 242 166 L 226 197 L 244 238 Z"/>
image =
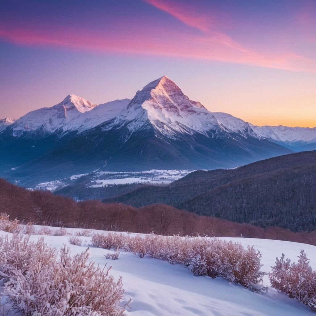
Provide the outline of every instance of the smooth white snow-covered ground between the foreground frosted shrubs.
<path id="1" fill-rule="evenodd" d="M 75 234 L 77 229 L 68 229 Z M 100 232 L 100 231 L 99 231 Z M 105 233 L 105 232 L 102 232 Z M 0 232 L 0 234 L 8 234 Z M 132 234 L 134 235 L 134 234 Z M 32 235 L 37 240 L 40 235 Z M 71 248 L 72 254 L 82 252 L 91 243 L 90 237 L 79 237 L 83 246 L 73 246 L 69 236 L 44 236 L 49 246 L 60 248 L 64 243 Z M 270 271 L 275 257 L 284 252 L 286 257 L 297 261 L 301 249 L 305 249 L 310 264 L 316 269 L 316 247 L 306 244 L 280 240 L 250 238 L 222 238 L 240 242 L 244 247 L 254 245 L 262 253 L 262 270 Z M 123 276 L 126 301 L 130 298 L 131 310 L 126 315 L 200 315 L 200 316 L 263 316 L 263 315 L 314 315 L 309 308 L 274 289 L 267 294 L 257 294 L 220 278 L 198 277 L 183 265 L 171 265 L 153 258 L 139 258 L 132 253 L 121 251 L 119 260 L 106 260 L 106 249 L 90 246 L 90 259 L 103 265 L 112 265 L 111 273 L 115 278 Z M 267 277 L 265 285 L 269 285 Z"/>

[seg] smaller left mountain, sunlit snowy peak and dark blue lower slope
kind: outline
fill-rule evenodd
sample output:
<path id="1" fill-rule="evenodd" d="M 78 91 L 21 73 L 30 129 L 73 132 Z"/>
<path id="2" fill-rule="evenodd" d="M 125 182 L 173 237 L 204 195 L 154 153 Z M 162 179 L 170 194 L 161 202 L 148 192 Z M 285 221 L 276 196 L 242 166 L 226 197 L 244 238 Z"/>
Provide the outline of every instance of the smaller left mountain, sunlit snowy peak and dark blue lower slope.
<path id="1" fill-rule="evenodd" d="M 115 100 L 96 106 L 71 94 L 55 106 L 27 113 L 0 133 L 0 172 L 9 177 L 11 168 L 19 168 L 71 142 L 78 132 L 116 116 L 129 101 Z"/>

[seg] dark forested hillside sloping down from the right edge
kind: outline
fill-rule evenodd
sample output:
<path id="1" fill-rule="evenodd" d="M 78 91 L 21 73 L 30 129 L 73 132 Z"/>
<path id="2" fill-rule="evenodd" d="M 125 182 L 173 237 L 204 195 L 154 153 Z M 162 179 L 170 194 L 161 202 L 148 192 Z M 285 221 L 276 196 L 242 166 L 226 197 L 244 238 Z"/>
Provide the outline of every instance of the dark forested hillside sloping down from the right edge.
<path id="1" fill-rule="evenodd" d="M 232 170 L 196 171 L 166 186 L 146 186 L 103 202 L 164 203 L 200 215 L 292 231 L 316 229 L 316 151 Z"/>

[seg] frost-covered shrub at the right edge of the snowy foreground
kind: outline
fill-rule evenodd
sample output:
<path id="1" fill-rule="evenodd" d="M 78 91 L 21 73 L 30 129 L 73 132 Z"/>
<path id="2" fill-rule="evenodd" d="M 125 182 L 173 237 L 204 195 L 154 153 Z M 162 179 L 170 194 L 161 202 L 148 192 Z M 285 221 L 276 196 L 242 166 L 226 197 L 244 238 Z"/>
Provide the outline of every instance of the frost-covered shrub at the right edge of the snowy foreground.
<path id="1" fill-rule="evenodd" d="M 301 250 L 297 264 L 290 259 L 276 258 L 269 273 L 271 286 L 295 298 L 316 312 L 316 271 L 309 265 L 306 253 Z"/>

